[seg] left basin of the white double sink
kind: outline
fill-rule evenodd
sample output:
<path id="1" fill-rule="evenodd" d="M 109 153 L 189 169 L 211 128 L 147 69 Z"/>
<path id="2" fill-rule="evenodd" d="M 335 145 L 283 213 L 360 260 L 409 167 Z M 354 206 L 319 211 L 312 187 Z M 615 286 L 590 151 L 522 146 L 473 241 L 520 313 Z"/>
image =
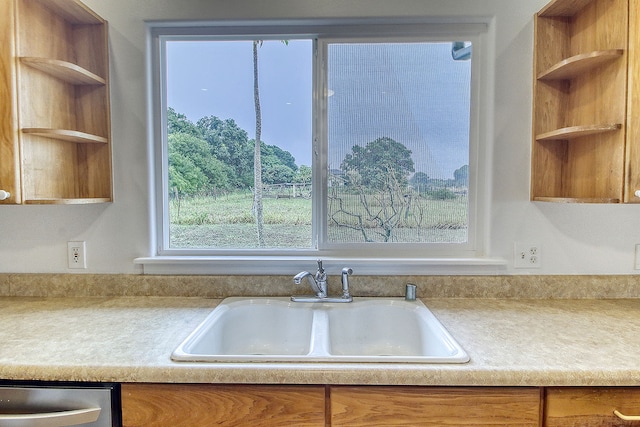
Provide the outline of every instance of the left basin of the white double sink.
<path id="1" fill-rule="evenodd" d="M 309 353 L 313 311 L 276 298 L 227 298 L 171 358 L 190 362 L 297 360 Z"/>

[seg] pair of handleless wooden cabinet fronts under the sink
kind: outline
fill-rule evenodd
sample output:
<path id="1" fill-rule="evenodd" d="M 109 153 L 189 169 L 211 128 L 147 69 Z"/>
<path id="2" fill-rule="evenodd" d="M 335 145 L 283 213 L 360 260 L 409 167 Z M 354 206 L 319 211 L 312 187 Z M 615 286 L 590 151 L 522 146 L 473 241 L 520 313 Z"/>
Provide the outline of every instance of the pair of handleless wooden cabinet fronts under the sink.
<path id="1" fill-rule="evenodd" d="M 540 389 L 123 384 L 124 427 L 540 425 Z"/>

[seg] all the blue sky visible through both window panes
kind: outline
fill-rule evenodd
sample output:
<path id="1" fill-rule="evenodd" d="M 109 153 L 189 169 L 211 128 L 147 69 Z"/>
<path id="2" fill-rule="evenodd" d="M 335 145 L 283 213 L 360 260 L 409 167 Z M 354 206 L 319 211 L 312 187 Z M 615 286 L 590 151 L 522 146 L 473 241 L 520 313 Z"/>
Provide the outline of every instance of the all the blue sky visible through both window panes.
<path id="1" fill-rule="evenodd" d="M 232 118 L 255 137 L 250 41 L 170 42 L 168 104 L 190 120 Z M 311 164 L 312 43 L 266 41 L 259 49 L 262 140 Z M 468 164 L 470 61 L 450 43 L 332 45 L 330 167 L 353 144 L 389 136 L 414 153 L 416 171 L 452 178 Z"/>

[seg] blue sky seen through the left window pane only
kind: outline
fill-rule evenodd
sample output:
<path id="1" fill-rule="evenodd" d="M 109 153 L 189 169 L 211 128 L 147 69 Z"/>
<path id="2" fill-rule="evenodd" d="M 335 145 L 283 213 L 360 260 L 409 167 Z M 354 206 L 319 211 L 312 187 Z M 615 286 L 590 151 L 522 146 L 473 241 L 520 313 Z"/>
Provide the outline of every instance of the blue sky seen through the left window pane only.
<path id="1" fill-rule="evenodd" d="M 259 48 L 262 141 L 311 165 L 311 41 L 266 41 Z M 167 102 L 196 122 L 234 119 L 255 137 L 251 42 L 170 42 Z M 268 84 L 266 81 L 268 80 Z"/>

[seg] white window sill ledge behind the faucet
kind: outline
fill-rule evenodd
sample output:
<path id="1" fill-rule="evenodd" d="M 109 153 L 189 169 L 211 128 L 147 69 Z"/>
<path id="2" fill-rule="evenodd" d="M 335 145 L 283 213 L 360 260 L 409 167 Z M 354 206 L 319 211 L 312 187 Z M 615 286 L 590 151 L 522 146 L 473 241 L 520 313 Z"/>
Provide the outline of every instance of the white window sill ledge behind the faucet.
<path id="1" fill-rule="evenodd" d="M 323 257 L 328 274 L 343 267 L 358 275 L 470 275 L 499 274 L 506 268 L 502 258 L 331 258 Z M 143 274 L 289 275 L 313 270 L 314 257 L 156 256 L 136 258 Z"/>

